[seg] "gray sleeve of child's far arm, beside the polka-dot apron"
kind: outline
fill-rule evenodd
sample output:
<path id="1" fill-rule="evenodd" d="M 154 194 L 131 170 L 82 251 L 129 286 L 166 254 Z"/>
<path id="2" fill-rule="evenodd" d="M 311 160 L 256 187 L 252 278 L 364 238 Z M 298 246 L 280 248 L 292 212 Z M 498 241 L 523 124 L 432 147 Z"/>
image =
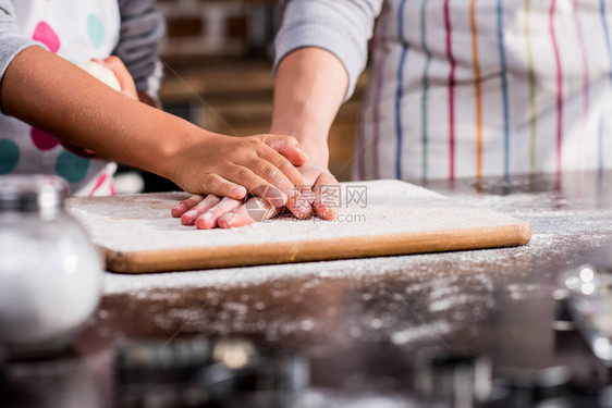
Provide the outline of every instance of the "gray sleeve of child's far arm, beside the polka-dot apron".
<path id="1" fill-rule="evenodd" d="M 163 70 L 159 61 L 159 41 L 166 32 L 155 0 L 119 0 L 121 32 L 112 52 L 134 77 L 136 88 L 157 98 Z"/>

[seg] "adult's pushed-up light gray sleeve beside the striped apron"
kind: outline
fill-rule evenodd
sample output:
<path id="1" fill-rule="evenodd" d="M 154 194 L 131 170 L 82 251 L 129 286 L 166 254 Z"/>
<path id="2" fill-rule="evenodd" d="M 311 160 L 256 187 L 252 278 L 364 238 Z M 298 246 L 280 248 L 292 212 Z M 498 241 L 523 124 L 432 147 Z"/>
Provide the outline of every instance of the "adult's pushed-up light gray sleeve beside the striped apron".
<path id="1" fill-rule="evenodd" d="M 318 47 L 332 52 L 348 74 L 345 100 L 367 63 L 368 40 L 383 0 L 286 0 L 276 39 L 274 72 L 290 52 Z"/>

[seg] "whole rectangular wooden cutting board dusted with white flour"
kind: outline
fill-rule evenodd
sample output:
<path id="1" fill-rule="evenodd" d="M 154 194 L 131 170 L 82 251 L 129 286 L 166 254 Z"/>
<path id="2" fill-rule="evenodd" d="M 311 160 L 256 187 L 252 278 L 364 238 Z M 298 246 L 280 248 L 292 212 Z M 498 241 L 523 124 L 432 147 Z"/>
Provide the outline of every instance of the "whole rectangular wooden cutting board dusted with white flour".
<path id="1" fill-rule="evenodd" d="M 66 210 L 121 273 L 494 248 L 527 244 L 529 223 L 397 181 L 344 183 L 335 221 L 291 218 L 232 230 L 181 225 L 184 193 L 70 198 Z"/>

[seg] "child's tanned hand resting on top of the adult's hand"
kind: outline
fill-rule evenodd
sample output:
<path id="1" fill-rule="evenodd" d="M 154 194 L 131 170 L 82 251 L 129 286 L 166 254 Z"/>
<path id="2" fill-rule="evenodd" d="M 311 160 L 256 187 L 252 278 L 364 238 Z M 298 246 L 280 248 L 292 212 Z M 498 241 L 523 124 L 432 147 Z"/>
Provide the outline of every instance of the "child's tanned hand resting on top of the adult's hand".
<path id="1" fill-rule="evenodd" d="M 185 191 L 199 194 L 196 200 L 203 200 L 206 195 L 240 200 L 250 194 L 264 198 L 270 206 L 286 206 L 296 217 L 311 215 L 308 200 L 295 188 L 304 185 L 304 178 L 294 165 L 305 164 L 308 158 L 293 137 L 213 135 L 203 138 L 197 135 L 192 140 L 187 139 L 185 148 L 174 154 L 178 170 L 171 178 Z M 173 211 L 175 217 L 193 207 L 191 202 L 180 205 Z M 212 199 L 208 203 L 212 203 Z M 231 209 L 233 207 L 219 215 Z"/>

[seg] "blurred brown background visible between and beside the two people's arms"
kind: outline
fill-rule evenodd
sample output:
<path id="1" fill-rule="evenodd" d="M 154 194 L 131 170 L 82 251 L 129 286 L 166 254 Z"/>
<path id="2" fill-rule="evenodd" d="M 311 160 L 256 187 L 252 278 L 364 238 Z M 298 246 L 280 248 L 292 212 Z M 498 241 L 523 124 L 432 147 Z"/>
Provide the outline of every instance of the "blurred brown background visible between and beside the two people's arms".
<path id="1" fill-rule="evenodd" d="M 167 20 L 161 47 L 166 77 L 160 91 L 164 110 L 225 135 L 268 133 L 280 0 L 157 0 L 157 4 Z M 351 178 L 365 76 L 330 132 L 330 171 L 340 181 Z M 123 166 L 120 171 L 133 172 Z M 179 189 L 150 174 L 143 178 L 146 191 Z M 118 189 L 125 190 L 121 185 Z"/>

